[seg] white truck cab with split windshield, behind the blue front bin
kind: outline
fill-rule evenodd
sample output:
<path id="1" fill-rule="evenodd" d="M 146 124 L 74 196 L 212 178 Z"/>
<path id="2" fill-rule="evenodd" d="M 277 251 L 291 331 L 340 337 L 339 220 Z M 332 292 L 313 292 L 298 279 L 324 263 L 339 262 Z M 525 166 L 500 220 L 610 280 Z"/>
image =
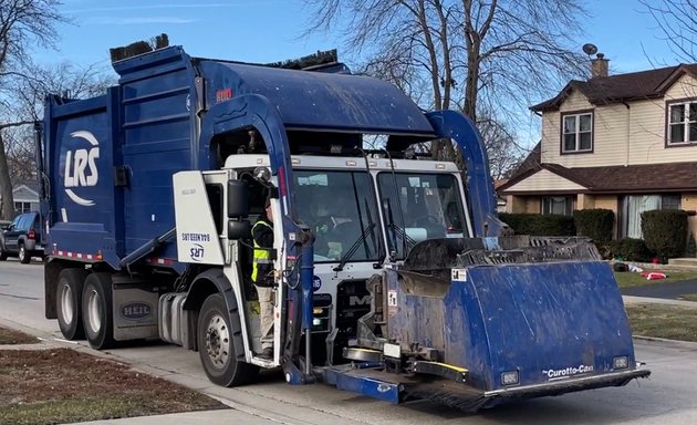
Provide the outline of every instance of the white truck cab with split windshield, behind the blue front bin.
<path id="1" fill-rule="evenodd" d="M 471 235 L 460 172 L 452 163 L 392 159 L 385 152 L 293 155 L 291 164 L 298 218 L 314 236 L 313 359 L 318 364 L 342 363 L 343 348 L 356 338 L 357 320 L 370 311 L 366 283 L 372 276 L 388 261 L 404 261 L 423 240 Z M 250 176 L 269 166 L 267 155 L 231 155 L 225 163 L 223 169 L 254 194 L 251 224 L 263 211 L 266 191 Z M 206 180 L 216 175 L 206 174 Z M 281 245 L 275 249 L 284 251 Z M 241 276 L 248 276 L 250 262 L 239 263 Z M 253 299 L 253 291 L 248 292 Z M 254 317 L 254 308 L 252 303 L 247 314 Z M 250 345 L 259 351 L 258 339 Z"/>

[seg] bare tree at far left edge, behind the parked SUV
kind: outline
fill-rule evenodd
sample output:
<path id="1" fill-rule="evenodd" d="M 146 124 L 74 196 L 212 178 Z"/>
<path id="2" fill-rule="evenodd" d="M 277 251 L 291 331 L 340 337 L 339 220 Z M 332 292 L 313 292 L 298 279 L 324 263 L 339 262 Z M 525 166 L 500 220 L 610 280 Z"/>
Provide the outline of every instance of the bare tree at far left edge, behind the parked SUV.
<path id="1" fill-rule="evenodd" d="M 55 25 L 67 20 L 59 13 L 58 0 L 0 0 L 0 86 L 8 77 L 22 76 L 19 71 L 34 46 L 51 48 L 58 39 Z M 2 137 L 4 128 L 25 120 L 0 122 L 0 207 L 1 218 L 14 214 L 12 185 Z"/>

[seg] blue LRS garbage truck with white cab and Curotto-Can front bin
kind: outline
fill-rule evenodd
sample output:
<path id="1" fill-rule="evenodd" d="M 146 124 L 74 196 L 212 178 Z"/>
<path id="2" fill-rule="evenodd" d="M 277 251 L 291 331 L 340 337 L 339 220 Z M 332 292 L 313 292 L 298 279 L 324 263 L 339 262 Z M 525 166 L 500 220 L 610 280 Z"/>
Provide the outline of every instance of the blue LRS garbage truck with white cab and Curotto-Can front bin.
<path id="1" fill-rule="evenodd" d="M 291 384 L 469 411 L 649 374 L 592 243 L 508 235 L 460 113 L 335 62 L 169 46 L 113 66 L 104 95 L 49 96 L 38 129 L 45 315 L 65 339 L 162 339 L 219 385 L 281 367 Z M 466 178 L 415 148 L 436 139 Z M 251 279 L 267 199 L 271 359 Z"/>

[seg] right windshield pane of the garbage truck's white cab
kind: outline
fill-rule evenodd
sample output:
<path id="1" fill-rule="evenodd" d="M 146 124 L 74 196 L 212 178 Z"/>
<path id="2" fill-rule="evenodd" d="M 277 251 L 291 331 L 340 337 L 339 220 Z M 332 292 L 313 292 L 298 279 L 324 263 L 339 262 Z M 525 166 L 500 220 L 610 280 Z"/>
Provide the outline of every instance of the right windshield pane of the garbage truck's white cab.
<path id="1" fill-rule="evenodd" d="M 381 173 L 377 176 L 387 243 L 397 258 L 425 239 L 464 237 L 457 179 L 450 174 Z"/>

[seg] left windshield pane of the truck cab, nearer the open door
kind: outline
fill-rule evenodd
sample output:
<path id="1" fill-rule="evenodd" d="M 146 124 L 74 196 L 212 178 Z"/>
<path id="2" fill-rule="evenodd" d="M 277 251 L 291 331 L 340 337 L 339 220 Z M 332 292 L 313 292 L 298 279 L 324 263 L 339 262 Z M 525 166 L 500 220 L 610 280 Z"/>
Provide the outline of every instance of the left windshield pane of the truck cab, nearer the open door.
<path id="1" fill-rule="evenodd" d="M 367 173 L 294 169 L 300 219 L 315 236 L 315 262 L 378 259 L 377 206 Z"/>

